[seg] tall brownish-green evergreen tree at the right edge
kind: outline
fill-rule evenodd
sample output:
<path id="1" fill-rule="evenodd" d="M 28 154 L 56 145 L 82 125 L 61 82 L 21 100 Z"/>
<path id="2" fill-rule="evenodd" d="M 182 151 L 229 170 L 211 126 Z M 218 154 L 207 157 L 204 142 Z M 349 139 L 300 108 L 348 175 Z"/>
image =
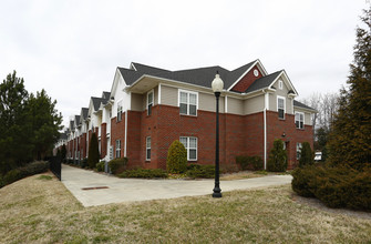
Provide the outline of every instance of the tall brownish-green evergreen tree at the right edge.
<path id="1" fill-rule="evenodd" d="M 371 163 L 371 9 L 361 20 L 368 29 L 357 29 L 349 88 L 341 90 L 329 140 L 330 162 L 358 170 Z"/>

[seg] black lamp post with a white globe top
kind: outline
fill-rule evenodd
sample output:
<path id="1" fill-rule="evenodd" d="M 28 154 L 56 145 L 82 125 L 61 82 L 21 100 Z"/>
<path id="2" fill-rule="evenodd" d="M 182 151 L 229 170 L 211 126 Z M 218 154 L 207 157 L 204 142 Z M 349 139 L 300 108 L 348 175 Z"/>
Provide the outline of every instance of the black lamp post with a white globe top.
<path id="1" fill-rule="evenodd" d="M 221 197 L 220 182 L 219 182 L 219 96 L 223 91 L 223 80 L 216 71 L 212 88 L 216 98 L 216 143 L 215 143 L 215 186 L 213 197 Z"/>

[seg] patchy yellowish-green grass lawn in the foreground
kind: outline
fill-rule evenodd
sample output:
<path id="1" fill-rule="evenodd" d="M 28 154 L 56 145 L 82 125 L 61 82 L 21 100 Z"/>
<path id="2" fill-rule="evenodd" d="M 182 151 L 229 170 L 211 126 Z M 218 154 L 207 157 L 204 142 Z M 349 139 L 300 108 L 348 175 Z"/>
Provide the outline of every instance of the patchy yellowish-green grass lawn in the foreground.
<path id="1" fill-rule="evenodd" d="M 34 175 L 0 189 L 0 243 L 371 242 L 371 218 L 292 194 L 285 185 L 84 209 L 55 177 Z"/>

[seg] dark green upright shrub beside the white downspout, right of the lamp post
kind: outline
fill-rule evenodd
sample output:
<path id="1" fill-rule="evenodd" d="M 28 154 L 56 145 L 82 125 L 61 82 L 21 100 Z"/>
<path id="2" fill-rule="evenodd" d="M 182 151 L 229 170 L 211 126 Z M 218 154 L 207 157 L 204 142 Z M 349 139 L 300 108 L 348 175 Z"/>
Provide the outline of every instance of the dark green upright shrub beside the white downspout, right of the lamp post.
<path id="1" fill-rule="evenodd" d="M 268 171 L 272 172 L 285 172 L 287 170 L 287 153 L 284 150 L 284 142 L 280 139 L 274 142 L 267 166 Z"/>

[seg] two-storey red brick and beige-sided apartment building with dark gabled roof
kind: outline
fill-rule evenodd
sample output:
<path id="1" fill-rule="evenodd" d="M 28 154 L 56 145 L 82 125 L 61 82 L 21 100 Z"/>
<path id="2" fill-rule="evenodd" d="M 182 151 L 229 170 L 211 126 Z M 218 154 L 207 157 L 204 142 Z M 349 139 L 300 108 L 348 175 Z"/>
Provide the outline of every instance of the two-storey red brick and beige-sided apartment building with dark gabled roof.
<path id="1" fill-rule="evenodd" d="M 213 164 L 215 155 L 216 72 L 224 81 L 219 99 L 220 163 L 258 155 L 267 164 L 275 139 L 285 142 L 289 167 L 301 143 L 313 143 L 311 114 L 285 70 L 268 73 L 259 60 L 236 70 L 208 67 L 169 71 L 131 63 L 117 68 L 110 92 L 91 98 L 68 130 L 68 156 L 87 156 L 92 132 L 101 157 L 128 157 L 130 166 L 166 169 L 167 150 L 179 140 L 188 162 Z M 60 146 L 60 144 L 58 145 Z"/>

